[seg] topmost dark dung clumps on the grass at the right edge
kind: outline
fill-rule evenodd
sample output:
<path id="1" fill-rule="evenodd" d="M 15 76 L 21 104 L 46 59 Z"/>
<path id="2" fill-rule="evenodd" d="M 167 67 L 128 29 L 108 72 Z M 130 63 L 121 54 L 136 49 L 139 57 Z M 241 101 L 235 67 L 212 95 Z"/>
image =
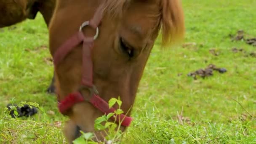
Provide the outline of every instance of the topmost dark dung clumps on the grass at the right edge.
<path id="1" fill-rule="evenodd" d="M 231 37 L 231 41 L 244 40 L 245 43 L 247 43 L 248 45 L 256 46 L 256 37 L 246 35 L 243 30 L 238 30 L 237 34 L 235 36 L 231 35 L 231 34 L 229 36 Z M 249 37 L 251 37 L 251 38 L 249 38 Z"/>

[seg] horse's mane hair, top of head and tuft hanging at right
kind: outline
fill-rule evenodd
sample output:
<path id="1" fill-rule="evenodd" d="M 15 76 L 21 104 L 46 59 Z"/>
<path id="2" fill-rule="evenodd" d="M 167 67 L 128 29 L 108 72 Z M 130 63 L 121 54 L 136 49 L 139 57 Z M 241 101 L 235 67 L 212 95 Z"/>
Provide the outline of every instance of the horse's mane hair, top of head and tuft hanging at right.
<path id="1" fill-rule="evenodd" d="M 106 0 L 104 13 L 109 13 L 109 16 L 120 18 L 124 7 L 131 1 L 132 0 Z M 183 40 L 185 33 L 184 13 L 181 2 L 180 0 L 159 1 L 160 13 L 156 15 L 159 17 L 159 24 L 156 24 L 156 28 L 159 28 L 162 33 L 161 44 L 163 47 L 178 44 Z"/>

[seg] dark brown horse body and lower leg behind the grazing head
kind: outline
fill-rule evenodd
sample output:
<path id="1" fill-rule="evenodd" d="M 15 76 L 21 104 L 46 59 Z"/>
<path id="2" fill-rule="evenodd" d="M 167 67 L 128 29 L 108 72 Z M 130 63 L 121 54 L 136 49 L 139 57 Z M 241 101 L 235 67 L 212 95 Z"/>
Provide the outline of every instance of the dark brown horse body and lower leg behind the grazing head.
<path id="1" fill-rule="evenodd" d="M 35 19 L 37 12 L 42 13 L 49 26 L 56 0 L 0 0 L 0 28 L 17 24 L 25 19 Z M 52 83 L 48 92 L 54 91 Z"/>

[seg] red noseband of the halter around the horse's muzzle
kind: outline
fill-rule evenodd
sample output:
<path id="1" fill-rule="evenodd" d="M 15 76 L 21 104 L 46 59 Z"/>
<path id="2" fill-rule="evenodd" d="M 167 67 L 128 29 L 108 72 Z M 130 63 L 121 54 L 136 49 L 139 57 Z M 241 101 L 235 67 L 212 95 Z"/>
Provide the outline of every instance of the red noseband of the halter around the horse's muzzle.
<path id="1" fill-rule="evenodd" d="M 84 97 L 79 93 L 71 93 L 69 96 L 65 97 L 63 101 L 60 101 L 58 104 L 59 111 L 61 114 L 67 112 L 68 109 L 72 108 L 76 103 L 85 101 Z M 101 99 L 101 97 L 93 94 L 90 99 L 90 103 L 99 109 L 104 114 L 108 115 L 110 112 L 115 112 L 115 108 L 110 108 L 106 101 Z M 115 117 L 111 117 L 112 120 L 115 120 Z M 121 122 L 121 125 L 128 127 L 132 122 L 132 117 L 127 117 L 123 114 L 116 116 L 116 122 Z"/>

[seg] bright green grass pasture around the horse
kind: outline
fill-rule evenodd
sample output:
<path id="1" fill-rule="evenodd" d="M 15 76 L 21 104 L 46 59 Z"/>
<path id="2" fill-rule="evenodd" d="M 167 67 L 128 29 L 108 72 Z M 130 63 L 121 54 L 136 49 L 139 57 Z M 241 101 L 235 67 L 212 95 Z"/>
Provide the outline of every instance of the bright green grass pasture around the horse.
<path id="1" fill-rule="evenodd" d="M 256 143 L 256 119 L 250 117 L 256 117 L 256 58 L 231 50 L 250 53 L 256 47 L 229 37 L 240 29 L 256 37 L 255 5 L 255 0 L 183 1 L 184 43 L 196 45 L 163 51 L 156 42 L 123 143 Z M 46 60 L 51 56 L 43 18 L 15 27 L 0 32 L 0 143 L 66 143 L 63 125 L 57 123 L 67 118 L 59 114 L 56 97 L 45 92 L 53 65 Z M 209 53 L 212 48 L 219 56 Z M 198 80 L 187 76 L 208 64 L 225 67 L 227 73 Z M 37 102 L 39 113 L 8 117 L 4 107 L 21 101 Z M 178 116 L 186 120 L 181 123 Z"/>

